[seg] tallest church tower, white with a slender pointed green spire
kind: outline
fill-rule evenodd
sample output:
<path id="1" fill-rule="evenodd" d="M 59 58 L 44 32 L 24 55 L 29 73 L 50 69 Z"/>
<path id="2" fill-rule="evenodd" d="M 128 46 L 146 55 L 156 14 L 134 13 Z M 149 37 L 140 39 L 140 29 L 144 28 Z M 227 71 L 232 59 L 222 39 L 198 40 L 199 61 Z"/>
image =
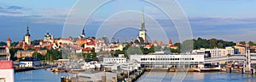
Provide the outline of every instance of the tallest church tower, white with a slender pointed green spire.
<path id="1" fill-rule="evenodd" d="M 139 34 L 144 41 L 147 41 L 147 30 L 145 29 L 144 12 L 143 12 L 143 19 L 142 19 L 142 29 L 140 30 Z"/>

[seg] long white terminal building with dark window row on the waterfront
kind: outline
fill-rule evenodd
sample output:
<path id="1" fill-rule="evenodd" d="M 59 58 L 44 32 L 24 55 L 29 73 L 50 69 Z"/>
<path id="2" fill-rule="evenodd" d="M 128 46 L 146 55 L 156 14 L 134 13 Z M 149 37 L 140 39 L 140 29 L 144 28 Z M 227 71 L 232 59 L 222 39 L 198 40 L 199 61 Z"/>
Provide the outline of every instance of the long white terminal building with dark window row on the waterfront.
<path id="1" fill-rule="evenodd" d="M 143 68 L 202 68 L 204 55 L 130 55 Z"/>

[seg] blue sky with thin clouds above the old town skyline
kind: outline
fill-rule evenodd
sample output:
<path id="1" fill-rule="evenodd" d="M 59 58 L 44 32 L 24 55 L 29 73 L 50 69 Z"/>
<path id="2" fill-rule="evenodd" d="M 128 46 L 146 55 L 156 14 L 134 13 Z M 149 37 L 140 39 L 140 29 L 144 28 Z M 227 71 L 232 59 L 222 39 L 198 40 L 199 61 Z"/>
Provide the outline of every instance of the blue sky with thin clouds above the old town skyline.
<path id="1" fill-rule="evenodd" d="M 100 0 L 98 0 L 100 1 Z M 150 1 L 150 0 L 148 0 Z M 176 2 L 189 20 L 193 38 L 256 41 L 256 0 L 167 0 Z M 90 4 L 88 4 L 90 3 Z M 94 4 L 95 3 L 95 4 Z M 173 7 L 163 1 L 155 2 Z M 142 9 L 149 41 L 180 41 L 180 31 L 164 10 L 143 0 L 113 0 L 98 8 L 95 0 L 8 0 L 0 2 L 0 41 L 22 41 L 30 27 L 32 40 L 112 35 L 111 41 L 131 41 L 141 28 Z M 94 12 L 90 13 L 90 9 Z M 175 14 L 177 8 L 172 8 Z M 86 19 L 86 17 L 89 17 Z M 85 21 L 86 19 L 86 21 Z M 177 19 L 177 20 L 176 20 Z M 122 29 L 121 29 L 122 28 Z M 72 31 L 71 33 L 67 33 Z M 114 32 L 113 32 L 114 31 Z"/>

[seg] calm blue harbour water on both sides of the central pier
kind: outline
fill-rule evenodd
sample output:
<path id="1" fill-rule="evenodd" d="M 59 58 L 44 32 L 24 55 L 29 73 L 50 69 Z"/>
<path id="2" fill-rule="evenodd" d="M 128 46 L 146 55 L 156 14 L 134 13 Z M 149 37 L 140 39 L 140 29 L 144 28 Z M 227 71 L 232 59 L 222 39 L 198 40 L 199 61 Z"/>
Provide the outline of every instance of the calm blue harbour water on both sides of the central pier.
<path id="1" fill-rule="evenodd" d="M 54 74 L 44 69 L 15 73 L 15 82 L 60 82 L 61 76 L 71 74 Z M 166 73 L 147 72 L 138 79 L 138 82 L 256 82 L 256 74 L 236 74 L 236 73 Z"/>

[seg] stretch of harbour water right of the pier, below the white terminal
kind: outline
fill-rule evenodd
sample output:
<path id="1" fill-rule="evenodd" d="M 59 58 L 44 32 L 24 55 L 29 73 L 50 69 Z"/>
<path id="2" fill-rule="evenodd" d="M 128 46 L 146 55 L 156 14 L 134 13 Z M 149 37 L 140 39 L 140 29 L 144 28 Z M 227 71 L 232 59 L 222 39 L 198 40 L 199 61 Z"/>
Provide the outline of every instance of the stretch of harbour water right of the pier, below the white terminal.
<path id="1" fill-rule="evenodd" d="M 174 78 L 175 77 L 175 78 Z M 137 82 L 256 82 L 256 74 L 239 73 L 166 73 L 149 72 L 137 80 Z"/>

